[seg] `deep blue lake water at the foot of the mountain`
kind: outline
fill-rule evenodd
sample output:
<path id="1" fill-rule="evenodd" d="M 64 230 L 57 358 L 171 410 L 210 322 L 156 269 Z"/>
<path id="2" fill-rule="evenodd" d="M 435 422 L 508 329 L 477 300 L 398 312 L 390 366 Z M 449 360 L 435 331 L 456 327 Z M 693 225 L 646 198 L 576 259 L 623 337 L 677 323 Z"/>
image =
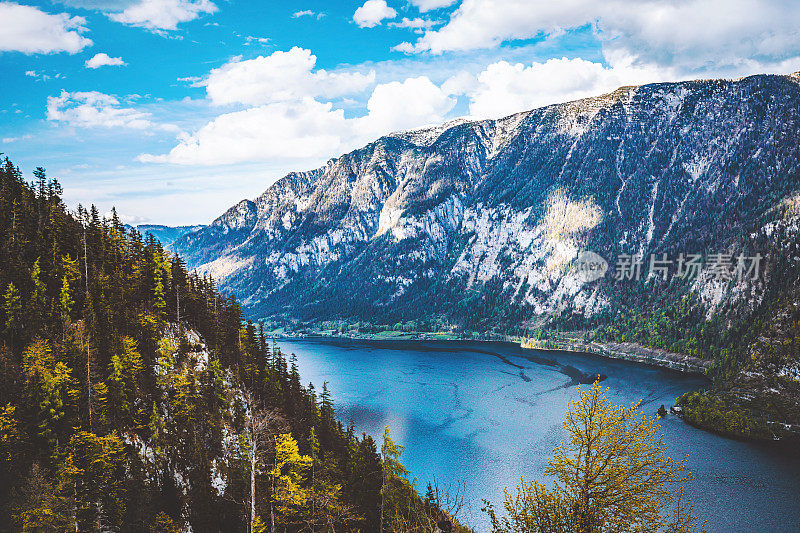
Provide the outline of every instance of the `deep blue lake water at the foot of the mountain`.
<path id="1" fill-rule="evenodd" d="M 281 340 L 302 379 L 327 381 L 337 416 L 380 446 L 383 429 L 405 451 L 402 462 L 424 491 L 461 483 L 470 508 L 462 517 L 487 530 L 481 500 L 496 505 L 520 476 L 546 481 L 547 459 L 564 435 L 562 420 L 576 387 L 569 369 L 608 376 L 608 398 L 642 401 L 654 414 L 704 380 L 592 355 L 523 350 L 509 343 Z M 568 371 L 565 372 L 564 369 Z M 725 439 L 668 415 L 669 455 L 688 454 L 688 495 L 710 533 L 800 531 L 800 451 Z"/>

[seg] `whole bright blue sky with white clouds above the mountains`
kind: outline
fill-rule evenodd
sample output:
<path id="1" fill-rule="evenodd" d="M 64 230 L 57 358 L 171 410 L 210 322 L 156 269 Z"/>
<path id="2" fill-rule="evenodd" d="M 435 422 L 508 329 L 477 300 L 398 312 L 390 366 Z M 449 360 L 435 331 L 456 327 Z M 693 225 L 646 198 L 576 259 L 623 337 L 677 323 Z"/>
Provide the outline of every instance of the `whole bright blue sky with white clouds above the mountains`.
<path id="1" fill-rule="evenodd" d="M 800 69 L 789 0 L 0 1 L 0 151 L 70 206 L 208 223 L 391 131 Z"/>

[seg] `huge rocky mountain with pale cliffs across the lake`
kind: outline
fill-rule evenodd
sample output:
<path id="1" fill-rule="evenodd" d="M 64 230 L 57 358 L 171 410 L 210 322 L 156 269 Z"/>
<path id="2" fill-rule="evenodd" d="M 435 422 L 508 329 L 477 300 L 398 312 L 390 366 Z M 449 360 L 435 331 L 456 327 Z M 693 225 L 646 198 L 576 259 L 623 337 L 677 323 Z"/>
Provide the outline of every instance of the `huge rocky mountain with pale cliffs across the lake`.
<path id="1" fill-rule="evenodd" d="M 713 361 L 720 383 L 749 371 L 794 391 L 799 141 L 798 73 L 622 87 L 387 135 L 173 249 L 254 319 L 587 330 Z M 576 268 L 585 250 L 605 276 Z M 615 279 L 636 254 L 641 279 Z M 666 276 L 652 254 L 672 261 Z M 696 278 L 675 275 L 680 254 L 702 255 Z M 735 275 L 759 254 L 757 279 Z"/>

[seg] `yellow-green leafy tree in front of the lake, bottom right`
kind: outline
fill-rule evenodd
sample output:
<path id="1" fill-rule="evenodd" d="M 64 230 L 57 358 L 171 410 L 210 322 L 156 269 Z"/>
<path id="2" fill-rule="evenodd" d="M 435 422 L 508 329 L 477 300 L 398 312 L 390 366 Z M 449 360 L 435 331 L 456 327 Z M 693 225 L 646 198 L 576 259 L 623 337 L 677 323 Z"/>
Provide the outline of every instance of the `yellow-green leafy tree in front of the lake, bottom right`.
<path id="1" fill-rule="evenodd" d="M 658 417 L 639 403 L 613 405 L 595 384 L 578 389 L 564 421 L 567 441 L 545 470 L 552 488 L 521 480 L 505 492 L 505 515 L 488 502 L 493 533 L 685 533 L 698 526 L 684 498 L 685 460 L 665 453 Z"/>

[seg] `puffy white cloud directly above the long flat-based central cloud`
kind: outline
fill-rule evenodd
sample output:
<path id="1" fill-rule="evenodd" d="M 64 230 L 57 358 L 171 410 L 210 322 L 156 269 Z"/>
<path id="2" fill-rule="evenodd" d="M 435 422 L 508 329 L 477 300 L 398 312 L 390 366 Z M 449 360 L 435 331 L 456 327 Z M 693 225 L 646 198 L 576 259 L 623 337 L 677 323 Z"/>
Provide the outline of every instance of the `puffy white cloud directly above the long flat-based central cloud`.
<path id="1" fill-rule="evenodd" d="M 375 72 L 314 70 L 316 62 L 309 50 L 294 47 L 288 52 L 227 63 L 212 70 L 202 84 L 216 105 L 261 105 L 305 96 L 343 96 L 361 92 L 375 81 Z"/>

